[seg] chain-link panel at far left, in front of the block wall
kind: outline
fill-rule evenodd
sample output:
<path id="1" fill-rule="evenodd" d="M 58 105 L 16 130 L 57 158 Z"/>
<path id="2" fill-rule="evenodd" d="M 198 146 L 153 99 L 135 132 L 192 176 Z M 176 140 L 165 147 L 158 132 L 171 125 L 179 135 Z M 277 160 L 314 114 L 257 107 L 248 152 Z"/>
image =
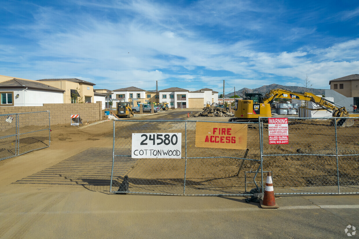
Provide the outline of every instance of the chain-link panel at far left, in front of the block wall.
<path id="1" fill-rule="evenodd" d="M 50 112 L 0 115 L 0 160 L 50 146 Z"/>

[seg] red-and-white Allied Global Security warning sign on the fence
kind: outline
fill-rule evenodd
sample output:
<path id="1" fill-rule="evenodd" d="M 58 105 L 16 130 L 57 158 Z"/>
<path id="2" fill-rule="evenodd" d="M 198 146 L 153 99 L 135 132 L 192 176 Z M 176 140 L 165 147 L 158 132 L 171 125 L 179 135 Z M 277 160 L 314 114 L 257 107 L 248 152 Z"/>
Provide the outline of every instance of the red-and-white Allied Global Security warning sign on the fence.
<path id="1" fill-rule="evenodd" d="M 288 144 L 288 118 L 268 119 L 269 144 Z"/>

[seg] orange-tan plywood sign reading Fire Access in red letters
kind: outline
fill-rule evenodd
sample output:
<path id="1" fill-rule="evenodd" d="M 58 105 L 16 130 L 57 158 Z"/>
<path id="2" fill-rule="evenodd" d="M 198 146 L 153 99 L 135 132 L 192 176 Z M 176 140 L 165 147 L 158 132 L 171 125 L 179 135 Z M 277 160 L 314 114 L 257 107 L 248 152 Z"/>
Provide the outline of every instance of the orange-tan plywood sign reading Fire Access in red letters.
<path id="1" fill-rule="evenodd" d="M 247 149 L 247 125 L 196 122 L 196 147 Z"/>

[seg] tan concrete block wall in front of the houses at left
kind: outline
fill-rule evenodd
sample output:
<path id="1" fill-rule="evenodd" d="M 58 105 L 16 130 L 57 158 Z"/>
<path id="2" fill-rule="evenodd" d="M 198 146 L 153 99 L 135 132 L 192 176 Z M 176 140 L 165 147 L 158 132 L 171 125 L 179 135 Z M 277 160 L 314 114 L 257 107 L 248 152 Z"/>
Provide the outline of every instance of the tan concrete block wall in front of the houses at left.
<path id="1" fill-rule="evenodd" d="M 71 114 L 80 114 L 83 123 L 102 120 L 102 103 L 43 104 L 43 106 L 2 106 L 0 114 L 50 111 L 50 124 L 70 124 Z M 29 117 L 32 117 L 29 115 Z M 6 117 L 3 117 L 4 121 Z"/>

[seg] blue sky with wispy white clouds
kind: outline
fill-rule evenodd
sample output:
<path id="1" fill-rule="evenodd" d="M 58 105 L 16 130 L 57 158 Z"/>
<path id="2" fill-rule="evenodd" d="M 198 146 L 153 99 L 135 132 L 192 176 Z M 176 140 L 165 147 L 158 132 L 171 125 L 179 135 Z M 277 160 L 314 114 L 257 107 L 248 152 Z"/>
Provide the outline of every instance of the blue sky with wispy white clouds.
<path id="1" fill-rule="evenodd" d="M 328 89 L 359 74 L 359 2 L 4 1 L 0 75 L 95 89 Z"/>

